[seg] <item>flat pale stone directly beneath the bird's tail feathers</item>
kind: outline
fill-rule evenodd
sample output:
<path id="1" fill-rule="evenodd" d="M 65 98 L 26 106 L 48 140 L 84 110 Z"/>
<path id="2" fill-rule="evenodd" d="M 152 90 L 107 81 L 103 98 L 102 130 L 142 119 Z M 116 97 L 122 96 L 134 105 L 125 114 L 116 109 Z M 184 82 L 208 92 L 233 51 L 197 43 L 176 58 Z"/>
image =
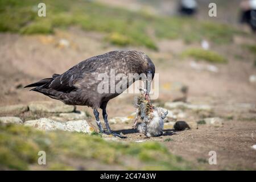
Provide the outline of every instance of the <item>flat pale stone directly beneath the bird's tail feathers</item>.
<path id="1" fill-rule="evenodd" d="M 75 106 L 51 101 L 31 102 L 28 108 L 32 112 L 41 111 L 45 113 L 72 113 L 75 110 Z"/>

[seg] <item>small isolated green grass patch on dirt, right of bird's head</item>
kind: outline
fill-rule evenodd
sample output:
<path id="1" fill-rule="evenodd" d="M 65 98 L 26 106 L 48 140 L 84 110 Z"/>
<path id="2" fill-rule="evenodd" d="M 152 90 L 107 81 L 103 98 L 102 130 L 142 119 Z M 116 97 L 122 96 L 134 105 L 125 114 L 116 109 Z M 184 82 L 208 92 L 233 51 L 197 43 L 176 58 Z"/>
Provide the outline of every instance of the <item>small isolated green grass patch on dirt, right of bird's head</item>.
<path id="1" fill-rule="evenodd" d="M 210 63 L 227 63 L 228 60 L 219 55 L 217 52 L 208 51 L 200 48 L 191 48 L 184 51 L 181 56 L 183 57 L 193 57 L 196 60 L 204 60 Z"/>

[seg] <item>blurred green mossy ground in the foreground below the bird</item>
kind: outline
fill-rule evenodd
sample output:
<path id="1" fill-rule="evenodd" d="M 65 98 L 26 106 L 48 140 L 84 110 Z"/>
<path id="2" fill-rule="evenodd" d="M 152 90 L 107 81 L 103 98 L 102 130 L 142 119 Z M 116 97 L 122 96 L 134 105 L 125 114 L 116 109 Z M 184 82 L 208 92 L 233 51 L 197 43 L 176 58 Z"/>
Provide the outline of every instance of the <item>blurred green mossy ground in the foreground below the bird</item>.
<path id="1" fill-rule="evenodd" d="M 79 169 L 77 160 L 81 163 L 93 160 L 99 167 L 107 164 L 110 169 L 111 166 L 137 170 L 191 169 L 189 163 L 170 154 L 158 142 L 111 142 L 97 135 L 46 133 L 20 125 L 0 125 L 0 145 L 0 169 Z M 38 165 L 39 151 L 46 152 L 46 166 Z M 138 165 L 133 166 L 130 160 L 137 161 Z"/>

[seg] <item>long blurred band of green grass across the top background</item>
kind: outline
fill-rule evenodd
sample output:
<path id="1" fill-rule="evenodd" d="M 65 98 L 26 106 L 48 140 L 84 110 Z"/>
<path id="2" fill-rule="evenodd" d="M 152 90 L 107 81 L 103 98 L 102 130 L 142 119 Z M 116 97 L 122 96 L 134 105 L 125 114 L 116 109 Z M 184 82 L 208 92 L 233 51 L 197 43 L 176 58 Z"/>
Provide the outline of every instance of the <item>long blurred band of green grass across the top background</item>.
<path id="1" fill-rule="evenodd" d="M 75 25 L 86 31 L 104 32 L 105 40 L 117 46 L 144 46 L 155 50 L 158 49 L 155 38 L 183 39 L 187 43 L 202 39 L 230 43 L 235 34 L 242 34 L 225 24 L 151 15 L 146 11 L 130 11 L 92 1 L 46 0 L 46 17 L 39 17 L 39 2 L 2 0 L 0 31 L 52 34 L 55 28 Z"/>

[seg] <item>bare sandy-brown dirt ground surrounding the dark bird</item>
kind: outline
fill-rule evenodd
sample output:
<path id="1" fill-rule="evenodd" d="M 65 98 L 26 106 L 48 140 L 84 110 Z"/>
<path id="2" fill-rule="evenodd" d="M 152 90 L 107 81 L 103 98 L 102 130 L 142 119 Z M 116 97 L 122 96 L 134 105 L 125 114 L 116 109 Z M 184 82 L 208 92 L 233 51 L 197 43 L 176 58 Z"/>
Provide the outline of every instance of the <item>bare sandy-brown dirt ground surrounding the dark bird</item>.
<path id="1" fill-rule="evenodd" d="M 104 35 L 75 27 L 68 31 L 56 31 L 55 35 L 0 34 L 0 106 L 51 100 L 43 94 L 28 92 L 23 86 L 53 73 L 63 73 L 90 56 L 120 49 L 105 43 L 103 38 Z M 70 46 L 58 46 L 60 39 L 67 39 Z M 218 73 L 191 68 L 192 59 L 181 60 L 179 53 L 187 48 L 181 40 L 160 41 L 158 52 L 138 48 L 151 57 L 156 73 L 159 73 L 159 98 L 153 102 L 174 100 L 181 94 L 173 86 L 174 83 L 185 85 L 189 88 L 187 101 L 213 106 L 211 116 L 223 118 L 223 127 L 199 125 L 197 130 L 166 130 L 162 137 L 149 139 L 131 129 L 132 123 L 114 124 L 113 130 L 126 135 L 124 140 L 162 142 L 173 154 L 206 169 L 256 169 L 256 150 L 251 148 L 256 144 L 256 84 L 249 82 L 249 76 L 255 75 L 256 69 L 251 55 L 241 49 L 243 42 L 254 40 L 237 37 L 229 47 L 213 47 L 229 59 L 228 64 L 215 65 Z M 133 113 L 133 98 L 134 95 L 125 94 L 110 101 L 109 118 Z M 78 108 L 86 109 L 93 115 L 88 107 Z M 184 120 L 199 121 L 203 115 L 189 113 Z M 93 118 L 90 122 L 94 122 Z M 168 138 L 171 140 L 166 142 Z M 209 151 L 217 152 L 217 165 L 208 164 Z"/>

